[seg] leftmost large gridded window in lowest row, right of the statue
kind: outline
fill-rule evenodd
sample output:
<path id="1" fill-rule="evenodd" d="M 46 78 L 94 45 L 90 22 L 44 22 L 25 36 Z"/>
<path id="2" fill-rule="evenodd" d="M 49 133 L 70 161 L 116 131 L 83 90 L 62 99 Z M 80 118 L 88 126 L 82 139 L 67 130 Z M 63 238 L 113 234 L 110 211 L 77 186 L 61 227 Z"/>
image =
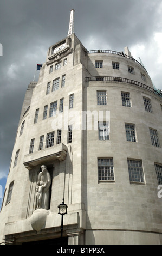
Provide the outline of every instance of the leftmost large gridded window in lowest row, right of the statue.
<path id="1" fill-rule="evenodd" d="M 114 181 L 113 158 L 98 159 L 99 181 Z"/>

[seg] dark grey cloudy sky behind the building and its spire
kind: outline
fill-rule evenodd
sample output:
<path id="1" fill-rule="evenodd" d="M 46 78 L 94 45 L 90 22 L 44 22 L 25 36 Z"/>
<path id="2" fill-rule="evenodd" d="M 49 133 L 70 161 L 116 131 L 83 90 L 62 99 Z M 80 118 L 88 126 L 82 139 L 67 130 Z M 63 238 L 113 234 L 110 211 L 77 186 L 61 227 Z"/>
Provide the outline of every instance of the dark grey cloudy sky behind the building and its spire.
<path id="1" fill-rule="evenodd" d="M 135 59 L 141 58 L 155 87 L 162 89 L 162 2 L 0 0 L 0 3 L 3 46 L 0 185 L 4 192 L 25 90 L 33 81 L 36 64 L 45 62 L 48 47 L 67 36 L 70 10 L 75 10 L 74 33 L 87 50 L 120 52 L 128 46 Z"/>

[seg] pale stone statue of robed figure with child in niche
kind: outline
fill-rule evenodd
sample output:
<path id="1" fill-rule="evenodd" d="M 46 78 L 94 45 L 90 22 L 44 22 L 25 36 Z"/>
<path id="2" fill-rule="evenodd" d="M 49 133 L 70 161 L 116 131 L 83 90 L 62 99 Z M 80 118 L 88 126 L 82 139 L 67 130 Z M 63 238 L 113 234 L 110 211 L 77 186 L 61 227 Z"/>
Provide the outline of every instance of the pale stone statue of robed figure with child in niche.
<path id="1" fill-rule="evenodd" d="M 51 178 L 46 166 L 41 166 L 42 172 L 38 175 L 38 182 L 36 188 L 36 209 L 46 209 L 49 208 L 49 187 L 51 185 Z"/>

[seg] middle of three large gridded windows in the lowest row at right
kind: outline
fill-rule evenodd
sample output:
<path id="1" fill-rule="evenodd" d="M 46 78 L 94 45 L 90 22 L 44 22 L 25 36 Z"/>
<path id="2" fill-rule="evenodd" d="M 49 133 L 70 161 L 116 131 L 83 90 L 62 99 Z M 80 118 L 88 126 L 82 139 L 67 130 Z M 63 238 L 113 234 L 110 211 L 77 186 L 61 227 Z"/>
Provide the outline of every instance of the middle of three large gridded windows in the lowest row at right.
<path id="1" fill-rule="evenodd" d="M 141 160 L 127 160 L 129 170 L 129 180 L 131 182 L 144 183 L 144 174 Z"/>

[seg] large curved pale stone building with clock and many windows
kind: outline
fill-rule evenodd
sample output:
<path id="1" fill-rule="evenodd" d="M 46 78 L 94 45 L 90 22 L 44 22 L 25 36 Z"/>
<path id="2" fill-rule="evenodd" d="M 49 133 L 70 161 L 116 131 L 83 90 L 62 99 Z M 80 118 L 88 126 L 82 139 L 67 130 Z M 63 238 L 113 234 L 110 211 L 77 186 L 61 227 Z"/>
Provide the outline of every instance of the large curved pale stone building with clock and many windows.
<path id="1" fill-rule="evenodd" d="M 0 242 L 59 245 L 64 198 L 64 244 L 160 244 L 161 146 L 161 92 L 144 66 L 70 33 L 25 94 Z"/>

